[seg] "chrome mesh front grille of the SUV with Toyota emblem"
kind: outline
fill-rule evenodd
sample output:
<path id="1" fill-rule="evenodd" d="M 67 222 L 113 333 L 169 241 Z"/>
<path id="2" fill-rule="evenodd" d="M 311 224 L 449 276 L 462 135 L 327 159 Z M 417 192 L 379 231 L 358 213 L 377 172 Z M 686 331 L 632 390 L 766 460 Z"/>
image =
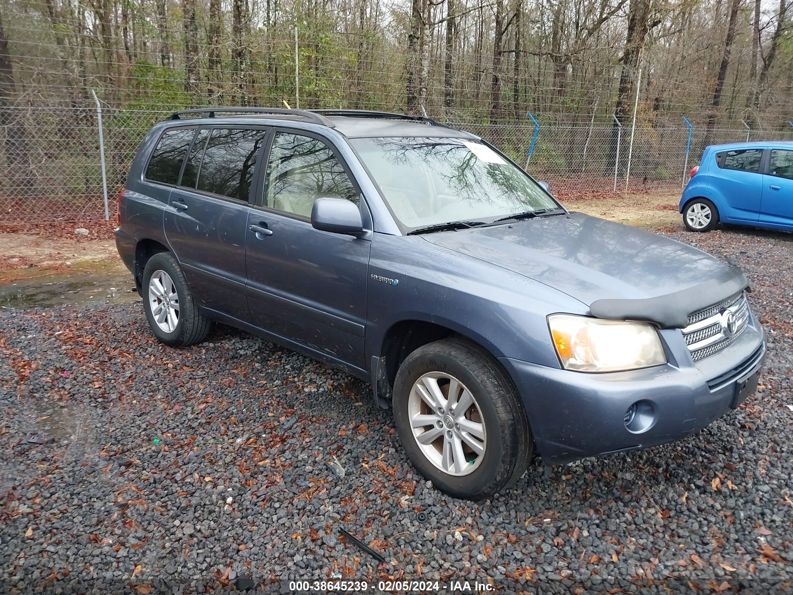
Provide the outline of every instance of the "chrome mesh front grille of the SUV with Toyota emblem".
<path id="1" fill-rule="evenodd" d="M 735 317 L 735 331 L 730 332 L 722 324 L 725 314 L 732 313 Z M 683 337 L 691 351 L 691 359 L 695 362 L 707 358 L 730 345 L 749 324 L 749 302 L 745 293 L 735 294 L 699 310 L 688 317 L 688 326 L 683 329 Z"/>

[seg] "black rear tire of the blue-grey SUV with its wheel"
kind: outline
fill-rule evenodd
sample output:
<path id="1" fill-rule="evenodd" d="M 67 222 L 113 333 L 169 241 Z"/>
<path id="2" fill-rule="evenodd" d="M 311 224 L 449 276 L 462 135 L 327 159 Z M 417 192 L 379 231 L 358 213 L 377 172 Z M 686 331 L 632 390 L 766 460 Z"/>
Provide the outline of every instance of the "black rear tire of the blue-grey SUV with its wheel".
<path id="1" fill-rule="evenodd" d="M 152 281 L 152 278 L 154 281 Z M 173 291 L 166 292 L 170 298 L 164 300 L 157 298 L 156 294 L 163 294 L 161 288 L 170 285 L 175 290 L 177 300 L 173 300 Z M 171 347 L 187 347 L 201 343 L 209 332 L 211 321 L 198 310 L 198 306 L 190 293 L 185 281 L 185 275 L 179 268 L 174 255 L 170 252 L 157 252 L 152 255 L 144 269 L 144 282 L 141 290 L 144 298 L 144 309 L 151 332 L 154 332 L 160 343 Z M 163 302 L 166 302 L 163 304 Z M 174 319 L 165 317 L 165 321 L 158 321 L 156 317 L 163 318 L 163 309 L 159 307 L 173 306 Z M 167 308 L 165 308 L 167 310 Z M 155 314 L 156 311 L 156 314 Z M 163 328 L 163 322 L 168 328 Z"/>

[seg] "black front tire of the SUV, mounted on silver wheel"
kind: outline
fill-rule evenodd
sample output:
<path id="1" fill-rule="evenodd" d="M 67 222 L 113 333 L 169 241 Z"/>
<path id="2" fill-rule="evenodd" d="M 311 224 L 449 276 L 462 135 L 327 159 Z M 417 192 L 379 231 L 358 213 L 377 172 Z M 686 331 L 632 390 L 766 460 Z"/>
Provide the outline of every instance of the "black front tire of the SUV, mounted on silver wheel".
<path id="1" fill-rule="evenodd" d="M 469 400 L 464 397 L 467 390 L 473 397 L 470 399 L 473 405 L 465 411 L 454 412 L 454 417 L 450 419 L 448 400 L 445 401 L 447 408 L 444 409 L 447 415 L 442 417 L 436 415 L 430 403 L 419 395 L 422 390 L 431 393 L 431 388 L 427 387 L 435 383 L 442 396 L 449 397 L 450 387 L 454 386 L 452 379 L 458 382 L 458 390 L 462 390 L 454 391 L 457 393 L 454 400 L 460 407 L 465 406 L 462 401 Z M 417 382 L 421 383 L 421 388 L 414 391 Z M 408 355 L 397 370 L 393 412 L 397 432 L 408 458 L 424 478 L 431 480 L 438 489 L 450 496 L 474 501 L 492 497 L 517 481 L 531 460 L 534 439 L 515 387 L 486 351 L 465 340 L 453 338 L 435 341 Z M 416 419 L 416 415 L 425 416 L 419 418 L 417 423 L 427 421 L 421 428 L 416 428 L 416 432 L 427 432 L 424 440 L 433 436 L 430 432 L 441 431 L 432 443 L 419 444 L 412 428 L 412 420 Z M 435 420 L 430 424 L 431 415 L 435 416 Z M 466 419 L 462 420 L 461 416 Z M 439 422 L 443 424 L 442 428 L 437 428 Z M 457 422 L 463 425 L 458 427 Z M 468 434 L 467 441 L 462 439 L 465 427 L 481 426 L 484 426 L 485 440 L 476 439 L 473 433 Z M 454 456 L 454 448 L 451 450 L 454 464 L 448 464 L 449 459 L 444 458 L 446 445 L 453 444 L 452 440 L 446 439 L 446 436 L 450 436 L 448 432 L 462 443 L 464 456 L 461 466 L 456 464 L 461 458 Z M 484 446 L 481 454 L 469 446 L 472 441 Z"/>

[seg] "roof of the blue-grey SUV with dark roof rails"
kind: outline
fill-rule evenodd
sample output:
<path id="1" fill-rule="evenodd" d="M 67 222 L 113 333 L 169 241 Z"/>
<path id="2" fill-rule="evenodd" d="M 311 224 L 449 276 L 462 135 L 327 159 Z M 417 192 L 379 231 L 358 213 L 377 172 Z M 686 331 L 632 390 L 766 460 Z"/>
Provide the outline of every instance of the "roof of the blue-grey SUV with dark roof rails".
<path id="1" fill-rule="evenodd" d="M 367 112 L 363 110 L 302 110 L 261 108 L 260 113 L 244 113 L 250 108 L 205 108 L 174 113 L 166 125 L 278 125 L 288 121 L 291 125 L 305 124 L 306 129 L 316 131 L 316 125 L 327 126 L 347 138 L 377 138 L 382 136 L 430 136 L 440 138 L 479 137 L 439 124 L 430 118 L 411 117 L 399 113 Z M 253 112 L 253 109 L 250 109 Z M 235 115 L 225 115 L 228 112 Z M 223 113 L 224 115 L 220 115 Z M 190 115 L 189 118 L 180 116 Z M 207 114 L 207 115 L 205 115 Z"/>

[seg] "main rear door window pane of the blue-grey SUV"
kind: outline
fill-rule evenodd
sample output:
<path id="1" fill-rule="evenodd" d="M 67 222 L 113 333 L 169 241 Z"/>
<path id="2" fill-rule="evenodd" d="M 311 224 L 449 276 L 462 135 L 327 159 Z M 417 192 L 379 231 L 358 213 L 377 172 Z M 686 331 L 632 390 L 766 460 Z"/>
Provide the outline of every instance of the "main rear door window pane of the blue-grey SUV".
<path id="1" fill-rule="evenodd" d="M 247 201 L 266 130 L 214 129 L 198 172 L 198 190 Z"/>

